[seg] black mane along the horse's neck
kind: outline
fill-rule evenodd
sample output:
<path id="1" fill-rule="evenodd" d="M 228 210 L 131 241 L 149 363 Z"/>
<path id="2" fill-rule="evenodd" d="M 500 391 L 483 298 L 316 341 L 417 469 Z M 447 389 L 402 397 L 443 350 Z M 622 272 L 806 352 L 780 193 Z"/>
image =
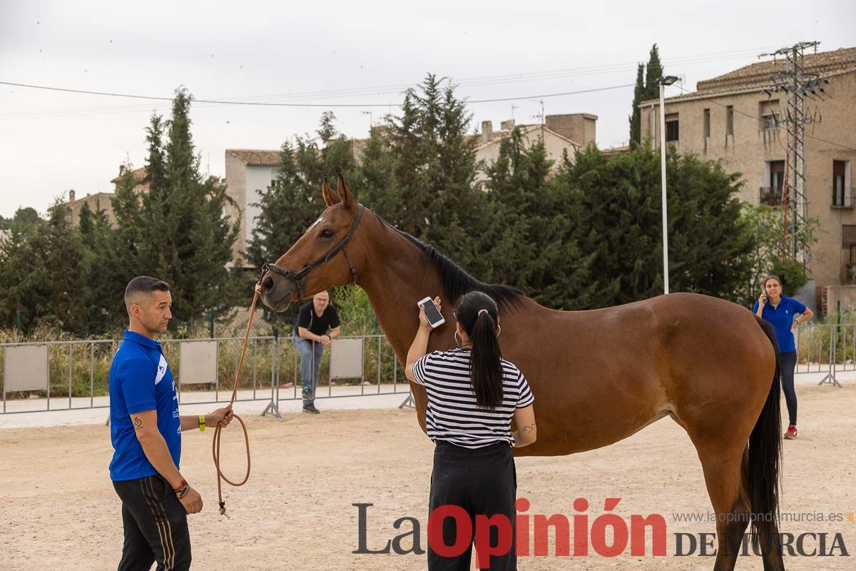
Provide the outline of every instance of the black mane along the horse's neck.
<path id="1" fill-rule="evenodd" d="M 373 212 L 373 214 L 381 223 L 395 230 L 396 233 L 407 238 L 407 241 L 410 241 L 422 250 L 425 255 L 425 261 L 430 261 L 437 268 L 437 273 L 440 274 L 440 281 L 443 283 L 443 294 L 452 301 L 453 305 L 461 299 L 461 296 L 471 291 L 480 291 L 490 295 L 490 297 L 496 300 L 496 304 L 504 309 L 512 309 L 523 305 L 524 294 L 520 289 L 480 282 L 470 276 L 460 265 L 455 264 L 451 259 L 439 253 L 436 247 L 431 246 L 431 244 L 425 244 L 425 242 L 407 234 L 404 230 L 395 228 L 395 226 L 384 220 L 383 217 L 378 216 L 377 212 Z"/>

